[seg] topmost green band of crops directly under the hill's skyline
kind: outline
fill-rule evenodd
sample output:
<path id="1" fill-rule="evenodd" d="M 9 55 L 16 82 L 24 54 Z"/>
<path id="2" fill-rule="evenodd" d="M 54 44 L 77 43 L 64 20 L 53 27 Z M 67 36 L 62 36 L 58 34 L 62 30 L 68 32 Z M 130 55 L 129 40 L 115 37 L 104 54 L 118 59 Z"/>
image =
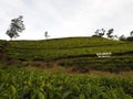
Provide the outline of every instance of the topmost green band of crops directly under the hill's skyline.
<path id="1" fill-rule="evenodd" d="M 117 42 L 100 37 L 73 37 L 73 38 L 54 38 L 47 41 L 11 41 L 11 46 L 17 48 L 35 48 L 35 50 L 63 50 L 79 47 L 94 47 L 104 45 L 117 45 L 124 42 Z"/>

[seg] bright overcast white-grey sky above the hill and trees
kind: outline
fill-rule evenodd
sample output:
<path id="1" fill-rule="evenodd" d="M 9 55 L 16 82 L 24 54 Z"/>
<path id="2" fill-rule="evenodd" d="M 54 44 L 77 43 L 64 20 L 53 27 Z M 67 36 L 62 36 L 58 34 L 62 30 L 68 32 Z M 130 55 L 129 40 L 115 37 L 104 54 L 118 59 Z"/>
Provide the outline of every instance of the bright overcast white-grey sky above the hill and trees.
<path id="1" fill-rule="evenodd" d="M 96 29 L 116 35 L 133 31 L 133 0 L 0 0 L 0 38 L 11 19 L 23 15 L 25 31 L 19 40 L 90 36 Z"/>

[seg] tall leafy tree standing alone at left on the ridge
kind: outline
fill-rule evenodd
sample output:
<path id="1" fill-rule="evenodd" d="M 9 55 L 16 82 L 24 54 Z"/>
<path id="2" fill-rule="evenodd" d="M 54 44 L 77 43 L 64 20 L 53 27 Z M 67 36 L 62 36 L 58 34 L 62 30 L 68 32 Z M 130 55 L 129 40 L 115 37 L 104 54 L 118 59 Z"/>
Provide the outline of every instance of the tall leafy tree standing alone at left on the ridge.
<path id="1" fill-rule="evenodd" d="M 17 19 L 11 20 L 10 28 L 7 30 L 6 34 L 12 40 L 13 37 L 18 37 L 19 33 L 25 30 L 23 21 L 23 16 L 20 15 Z"/>

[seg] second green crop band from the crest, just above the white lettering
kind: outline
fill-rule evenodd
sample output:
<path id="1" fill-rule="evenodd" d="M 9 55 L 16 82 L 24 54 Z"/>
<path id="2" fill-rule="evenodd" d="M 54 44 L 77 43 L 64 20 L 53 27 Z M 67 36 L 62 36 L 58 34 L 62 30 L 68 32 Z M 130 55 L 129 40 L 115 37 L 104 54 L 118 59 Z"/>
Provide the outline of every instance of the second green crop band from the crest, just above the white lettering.
<path id="1" fill-rule="evenodd" d="M 129 45 L 131 46 L 131 45 Z M 8 52 L 9 58 L 25 59 L 25 61 L 52 61 L 61 57 L 78 57 L 78 56 L 96 56 L 96 53 L 112 52 L 113 55 L 132 52 L 132 47 L 129 50 L 126 46 L 106 46 L 106 47 L 80 47 L 69 50 L 22 50 L 10 48 Z M 130 54 L 130 53 L 129 53 Z"/>

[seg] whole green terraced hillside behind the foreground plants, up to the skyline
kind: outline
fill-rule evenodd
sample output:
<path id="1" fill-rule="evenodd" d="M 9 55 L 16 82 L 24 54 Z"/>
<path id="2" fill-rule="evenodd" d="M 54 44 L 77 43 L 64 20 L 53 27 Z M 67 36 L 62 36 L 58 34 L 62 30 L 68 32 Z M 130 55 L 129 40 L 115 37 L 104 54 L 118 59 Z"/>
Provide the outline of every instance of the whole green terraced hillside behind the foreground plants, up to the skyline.
<path id="1" fill-rule="evenodd" d="M 2 51 L 3 43 L 0 44 Z M 117 72 L 117 68 L 119 70 L 133 69 L 133 43 L 102 37 L 10 41 L 6 52 L 8 61 L 43 63 L 57 61 L 57 65 L 71 66 L 74 70 L 102 69 Z M 111 57 L 101 58 L 96 56 L 96 53 L 112 53 L 112 55 Z"/>

